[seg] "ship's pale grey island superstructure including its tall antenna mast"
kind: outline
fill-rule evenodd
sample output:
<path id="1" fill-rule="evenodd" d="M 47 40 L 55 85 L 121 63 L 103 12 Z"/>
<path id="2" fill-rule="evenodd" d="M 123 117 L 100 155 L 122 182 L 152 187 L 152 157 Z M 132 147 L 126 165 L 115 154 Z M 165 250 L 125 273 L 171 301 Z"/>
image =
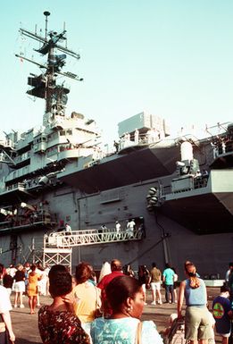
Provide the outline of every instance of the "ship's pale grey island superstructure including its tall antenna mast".
<path id="1" fill-rule="evenodd" d="M 20 29 L 20 32 L 42 44 L 36 51 L 40 55 L 47 55 L 46 63 L 37 63 L 24 55 L 16 55 L 37 64 L 44 71 L 39 75 L 29 76 L 30 89 L 27 91 L 30 96 L 46 101 L 43 125 L 39 129 L 31 129 L 24 133 L 13 131 L 6 134 L 1 141 L 1 161 L 7 164 L 3 166 L 1 199 L 6 203 L 15 202 L 15 197 L 21 200 L 33 198 L 45 185 L 54 188 L 61 184 L 56 178 L 57 173 L 63 171 L 66 164 L 71 164 L 72 159 L 78 160 L 80 156 L 95 154 L 102 156 L 97 146 L 100 135 L 96 129 L 96 122 L 85 119 L 81 113 L 73 112 L 71 116 L 65 113 L 70 90 L 64 87 L 64 83 L 57 84 L 56 78 L 59 74 L 73 80 L 82 80 L 69 71 L 62 72 L 67 55 L 75 59 L 79 59 L 80 56 L 59 45 L 60 41 L 66 39 L 65 30 L 61 34 L 47 32 L 47 17 L 50 13 L 44 14 L 45 38 L 26 29 Z M 65 54 L 57 55 L 56 51 Z M 18 214 L 17 209 L 11 211 Z"/>

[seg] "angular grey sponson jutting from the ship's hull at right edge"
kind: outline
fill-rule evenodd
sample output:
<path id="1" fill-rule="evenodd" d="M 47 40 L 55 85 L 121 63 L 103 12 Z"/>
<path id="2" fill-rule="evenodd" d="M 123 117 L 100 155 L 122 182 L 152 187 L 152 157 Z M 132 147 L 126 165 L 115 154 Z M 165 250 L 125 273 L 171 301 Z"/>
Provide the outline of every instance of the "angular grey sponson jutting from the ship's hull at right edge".
<path id="1" fill-rule="evenodd" d="M 161 210 L 198 234 L 233 232 L 233 170 L 212 170 L 206 187 L 166 195 Z"/>

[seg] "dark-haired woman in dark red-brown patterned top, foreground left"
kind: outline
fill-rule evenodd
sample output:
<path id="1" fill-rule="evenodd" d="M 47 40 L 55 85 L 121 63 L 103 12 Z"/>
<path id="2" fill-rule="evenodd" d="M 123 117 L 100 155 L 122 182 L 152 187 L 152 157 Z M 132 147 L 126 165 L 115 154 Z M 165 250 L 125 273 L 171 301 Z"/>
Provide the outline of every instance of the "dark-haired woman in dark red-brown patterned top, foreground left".
<path id="1" fill-rule="evenodd" d="M 54 265 L 49 272 L 51 306 L 38 312 L 38 328 L 44 344 L 89 344 L 87 333 L 73 313 L 71 274 L 63 265 Z"/>

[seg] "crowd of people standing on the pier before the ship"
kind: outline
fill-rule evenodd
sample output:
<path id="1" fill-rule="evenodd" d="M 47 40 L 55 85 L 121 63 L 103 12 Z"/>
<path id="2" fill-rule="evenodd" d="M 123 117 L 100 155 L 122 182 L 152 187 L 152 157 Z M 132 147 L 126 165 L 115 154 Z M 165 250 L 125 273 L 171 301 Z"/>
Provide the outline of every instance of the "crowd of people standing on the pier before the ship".
<path id="1" fill-rule="evenodd" d="M 214 326 L 222 344 L 229 344 L 233 263 L 229 264 L 220 295 L 213 299 L 211 312 L 207 307 L 204 280 L 197 273 L 196 265 L 187 261 L 184 271 L 186 279 L 178 283 L 176 269 L 170 264 L 165 265 L 163 272 L 155 263 L 151 269 L 139 265 L 136 273 L 129 264 L 122 266 L 120 260 L 113 259 L 111 263 L 104 262 L 97 281 L 93 267 L 85 262 L 76 266 L 74 275 L 62 264 L 51 269 L 42 269 L 40 264 L 10 265 L 5 269 L 0 264 L 0 344 L 15 340 L 10 316 L 12 290 L 13 306 L 24 307 L 22 295 L 25 293 L 29 298 L 29 313 L 33 315 L 39 305 L 38 290 L 42 290 L 43 279 L 46 281 L 44 295 L 49 292 L 53 298 L 51 305 L 38 310 L 38 329 L 43 343 L 162 344 L 167 343 L 166 338 L 173 333 L 172 323 L 184 321 L 184 338 L 190 344 L 210 344 L 214 341 Z M 171 315 L 170 326 L 160 334 L 153 321 L 141 322 L 140 318 L 147 290 L 151 290 L 151 305 L 162 305 L 162 286 L 165 289 L 163 302 L 177 303 L 177 314 Z M 178 295 L 176 289 L 179 289 Z"/>

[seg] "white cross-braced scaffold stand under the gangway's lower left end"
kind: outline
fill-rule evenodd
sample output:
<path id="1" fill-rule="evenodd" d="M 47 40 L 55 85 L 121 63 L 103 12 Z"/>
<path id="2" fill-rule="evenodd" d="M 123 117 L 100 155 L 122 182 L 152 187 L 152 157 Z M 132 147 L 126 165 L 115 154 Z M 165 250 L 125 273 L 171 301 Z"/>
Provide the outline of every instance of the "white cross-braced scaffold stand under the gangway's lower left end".
<path id="1" fill-rule="evenodd" d="M 44 248 L 43 266 L 53 266 L 62 264 L 67 267 L 71 273 L 72 248 Z"/>

